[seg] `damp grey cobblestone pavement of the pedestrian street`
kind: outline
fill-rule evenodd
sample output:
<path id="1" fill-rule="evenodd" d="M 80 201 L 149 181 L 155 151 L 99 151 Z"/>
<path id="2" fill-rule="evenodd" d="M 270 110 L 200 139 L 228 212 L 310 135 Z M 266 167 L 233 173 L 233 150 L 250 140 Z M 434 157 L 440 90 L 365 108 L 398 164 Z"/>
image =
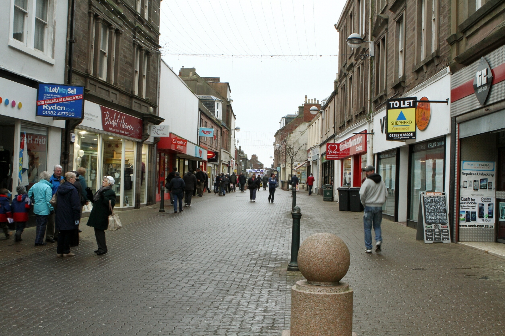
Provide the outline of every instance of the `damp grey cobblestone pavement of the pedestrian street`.
<path id="1" fill-rule="evenodd" d="M 164 216 L 121 214 L 96 256 L 83 235 L 57 258 L 49 246 L 0 260 L 2 335 L 281 335 L 289 328 L 291 198 L 260 191 L 197 198 Z M 300 192 L 301 239 L 340 236 L 351 253 L 358 335 L 501 335 L 505 260 L 458 244 L 424 244 L 383 221 L 380 254 L 365 254 L 362 214 Z M 131 214 L 131 215 L 130 215 Z M 138 215 L 140 214 L 140 215 Z M 0 243 L 3 243 L 0 241 Z M 2 244 L 0 244 L 0 248 Z"/>

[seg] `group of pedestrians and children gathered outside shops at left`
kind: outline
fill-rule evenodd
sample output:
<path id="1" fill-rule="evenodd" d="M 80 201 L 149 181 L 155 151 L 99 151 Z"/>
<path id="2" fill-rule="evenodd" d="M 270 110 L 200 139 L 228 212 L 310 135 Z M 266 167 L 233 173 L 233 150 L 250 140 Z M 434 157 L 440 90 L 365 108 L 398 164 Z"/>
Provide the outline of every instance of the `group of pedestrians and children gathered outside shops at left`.
<path id="1" fill-rule="evenodd" d="M 15 223 L 15 240 L 22 241 L 28 212 L 33 207 L 35 214 L 36 233 L 35 246 L 57 242 L 57 256 L 70 257 L 70 247 L 79 245 L 79 223 L 82 207 L 93 204 L 87 225 L 94 228 L 98 249 L 97 255 L 107 253 L 105 230 L 109 226 L 109 216 L 116 204 L 116 193 L 112 190 L 115 180 L 112 176 L 104 176 L 102 187 L 94 194 L 86 185 L 84 178 L 86 169 L 80 167 L 77 171 L 69 171 L 62 176 L 62 166 L 56 165 L 53 174 L 43 171 L 38 176 L 38 182 L 26 191 L 25 186 L 16 187 L 12 203 L 9 201 L 9 191 L 0 189 L 0 226 L 7 239 L 10 238 L 7 223 Z M 45 236 L 45 242 L 44 242 Z"/>

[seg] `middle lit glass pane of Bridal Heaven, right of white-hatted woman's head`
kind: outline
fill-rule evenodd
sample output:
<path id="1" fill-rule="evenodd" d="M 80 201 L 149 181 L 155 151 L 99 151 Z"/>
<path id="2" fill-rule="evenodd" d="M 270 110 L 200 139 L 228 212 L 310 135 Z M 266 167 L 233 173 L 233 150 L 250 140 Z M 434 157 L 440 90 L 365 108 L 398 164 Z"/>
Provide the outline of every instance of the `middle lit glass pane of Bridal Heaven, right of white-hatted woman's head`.
<path id="1" fill-rule="evenodd" d="M 104 136 L 104 150 L 102 156 L 103 158 L 103 169 L 102 174 L 104 176 L 112 176 L 115 179 L 115 183 L 112 189 L 116 192 L 116 205 L 115 207 L 121 206 L 119 201 L 120 196 L 120 186 L 121 186 L 121 152 L 123 150 L 123 142 L 117 137 Z M 100 178 L 100 183 L 102 183 L 102 177 Z"/>

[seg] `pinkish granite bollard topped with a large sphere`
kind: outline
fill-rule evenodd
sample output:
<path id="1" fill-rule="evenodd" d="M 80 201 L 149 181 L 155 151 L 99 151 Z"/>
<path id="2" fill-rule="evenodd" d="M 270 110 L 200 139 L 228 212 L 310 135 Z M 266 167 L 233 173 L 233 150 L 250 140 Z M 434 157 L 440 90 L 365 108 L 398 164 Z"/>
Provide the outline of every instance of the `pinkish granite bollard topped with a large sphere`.
<path id="1" fill-rule="evenodd" d="M 291 288 L 290 336 L 351 336 L 352 289 L 340 282 L 349 269 L 347 245 L 331 233 L 308 237 L 298 252 L 307 280 Z"/>

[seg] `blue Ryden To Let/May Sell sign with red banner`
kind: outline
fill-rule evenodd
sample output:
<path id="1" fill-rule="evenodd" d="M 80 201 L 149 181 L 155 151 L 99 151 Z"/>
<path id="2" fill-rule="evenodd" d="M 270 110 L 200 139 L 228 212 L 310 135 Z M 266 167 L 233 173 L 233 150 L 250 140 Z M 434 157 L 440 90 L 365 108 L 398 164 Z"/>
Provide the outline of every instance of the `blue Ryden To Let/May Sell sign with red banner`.
<path id="1" fill-rule="evenodd" d="M 82 119 L 84 87 L 40 83 L 37 90 L 38 117 Z"/>

